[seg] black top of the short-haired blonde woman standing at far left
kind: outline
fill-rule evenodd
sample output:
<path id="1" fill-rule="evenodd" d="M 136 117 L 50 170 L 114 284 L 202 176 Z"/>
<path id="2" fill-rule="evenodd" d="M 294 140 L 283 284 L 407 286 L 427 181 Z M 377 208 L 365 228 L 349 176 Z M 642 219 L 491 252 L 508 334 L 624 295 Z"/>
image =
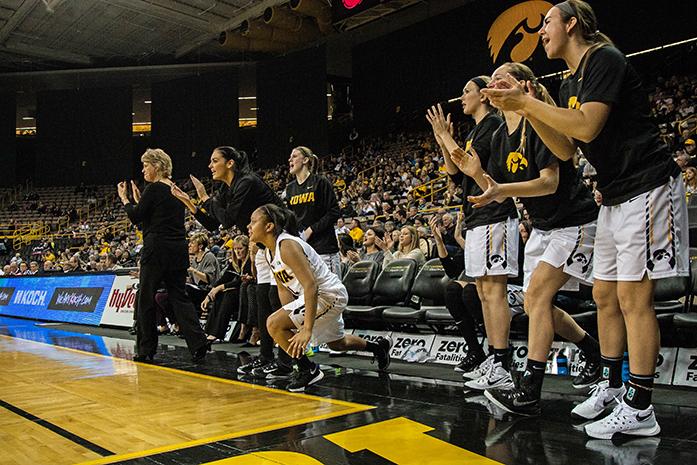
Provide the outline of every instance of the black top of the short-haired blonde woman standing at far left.
<path id="1" fill-rule="evenodd" d="M 184 205 L 170 192 L 170 187 L 161 182 L 148 184 L 134 205 L 124 206 L 133 224 L 143 231 L 141 263 L 166 258 L 172 269 L 186 269 L 189 254 L 184 230 Z"/>

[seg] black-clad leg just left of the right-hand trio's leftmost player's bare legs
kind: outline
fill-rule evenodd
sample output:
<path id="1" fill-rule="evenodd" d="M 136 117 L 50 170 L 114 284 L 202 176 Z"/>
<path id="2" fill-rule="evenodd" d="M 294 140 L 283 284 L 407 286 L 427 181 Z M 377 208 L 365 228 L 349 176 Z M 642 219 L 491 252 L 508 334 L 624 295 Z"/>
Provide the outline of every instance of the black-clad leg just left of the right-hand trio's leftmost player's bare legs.
<path id="1" fill-rule="evenodd" d="M 481 350 L 477 326 L 484 318 L 477 286 L 468 284 L 462 287 L 459 283 L 450 281 L 445 290 L 445 307 L 455 319 L 460 334 L 467 343 L 467 350 Z"/>

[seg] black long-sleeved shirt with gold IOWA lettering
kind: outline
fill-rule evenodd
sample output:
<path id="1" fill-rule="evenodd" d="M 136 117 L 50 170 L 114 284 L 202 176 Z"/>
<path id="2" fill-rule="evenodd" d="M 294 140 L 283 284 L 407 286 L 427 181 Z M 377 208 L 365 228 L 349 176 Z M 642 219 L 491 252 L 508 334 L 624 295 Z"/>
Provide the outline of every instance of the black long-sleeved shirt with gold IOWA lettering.
<path id="1" fill-rule="evenodd" d="M 307 243 L 318 254 L 339 252 L 334 224 L 341 216 L 334 188 L 327 178 L 311 174 L 305 182 L 292 180 L 286 187 L 288 208 L 295 213 L 301 230 L 312 228 Z"/>

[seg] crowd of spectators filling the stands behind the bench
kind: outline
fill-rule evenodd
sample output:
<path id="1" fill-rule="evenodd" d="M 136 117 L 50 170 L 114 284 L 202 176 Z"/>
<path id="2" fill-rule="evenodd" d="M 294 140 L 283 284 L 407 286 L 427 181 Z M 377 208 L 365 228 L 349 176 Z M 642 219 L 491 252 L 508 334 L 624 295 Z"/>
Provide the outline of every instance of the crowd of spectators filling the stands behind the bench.
<path id="1" fill-rule="evenodd" d="M 688 194 L 697 191 L 696 96 L 696 75 L 659 78 L 650 94 L 652 115 L 659 124 L 662 139 L 683 169 Z M 458 129 L 458 134 L 467 133 L 467 124 Z M 448 250 L 461 249 L 458 211 L 462 191 L 448 181 L 444 160 L 430 131 L 353 140 L 339 154 L 320 161 L 320 173 L 332 182 L 340 203 L 342 219 L 336 225 L 336 233 L 344 267 L 359 260 L 386 265 L 401 257 L 423 264 L 437 256 L 429 228 L 434 215 L 432 225 L 440 228 Z M 578 162 L 584 178 L 593 185 L 593 167 L 582 157 Z M 289 180 L 287 164 L 261 174 L 282 195 Z M 185 182 L 180 185 L 191 187 Z M 25 189 L 19 196 L 3 191 L 2 200 L 0 234 L 5 237 L 0 239 L 2 276 L 137 267 L 141 236 L 136 228 L 123 221 L 125 215 L 114 186 L 34 188 Z M 596 201 L 600 202 L 599 195 Z M 521 215 L 524 217 L 524 212 Z M 22 247 L 16 247 L 19 229 L 26 224 L 40 227 L 25 234 L 41 237 L 26 244 L 20 242 Z M 521 223 L 523 237 L 529 228 L 526 221 Z M 189 237 L 199 244 L 196 252 L 209 253 L 216 259 L 215 269 L 206 270 L 205 279 L 196 270 L 190 270 L 191 284 L 206 289 L 202 296 L 222 285 L 219 279 L 226 270 L 239 273 L 244 268 L 242 275 L 248 276 L 245 284 L 249 282 L 251 268 L 246 258 L 249 254 L 233 252 L 235 244 L 238 249 L 249 247 L 242 231 L 233 228 L 202 235 L 200 225 L 193 218 L 187 221 L 186 229 Z M 242 243 L 244 247 L 240 246 Z M 192 253 L 192 263 L 197 261 L 196 256 L 197 253 Z M 210 259 L 207 266 L 213 266 Z M 208 307 L 211 302 L 197 303 L 214 308 Z M 246 308 L 240 309 L 237 318 L 248 321 L 250 326 L 254 321 Z M 247 332 L 251 333 L 251 328 Z"/>

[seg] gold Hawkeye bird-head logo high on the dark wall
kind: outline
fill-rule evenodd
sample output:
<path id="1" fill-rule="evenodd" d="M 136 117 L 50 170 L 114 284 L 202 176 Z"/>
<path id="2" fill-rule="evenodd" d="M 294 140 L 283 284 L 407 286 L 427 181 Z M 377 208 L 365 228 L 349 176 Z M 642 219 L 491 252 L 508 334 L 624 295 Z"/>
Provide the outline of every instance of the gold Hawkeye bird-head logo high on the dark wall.
<path id="1" fill-rule="evenodd" d="M 505 61 L 523 62 L 530 58 L 540 42 L 537 33 L 552 4 L 540 0 L 519 3 L 507 9 L 492 23 L 487 40 L 491 58 L 496 63 L 503 46 L 515 38 L 516 45 Z"/>

